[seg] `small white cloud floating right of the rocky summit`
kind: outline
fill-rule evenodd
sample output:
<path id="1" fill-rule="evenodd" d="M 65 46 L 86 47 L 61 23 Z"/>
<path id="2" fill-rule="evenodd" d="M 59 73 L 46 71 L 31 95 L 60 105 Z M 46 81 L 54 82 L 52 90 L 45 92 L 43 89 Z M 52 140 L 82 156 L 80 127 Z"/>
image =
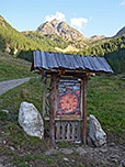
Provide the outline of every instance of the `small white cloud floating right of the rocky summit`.
<path id="1" fill-rule="evenodd" d="M 82 31 L 88 23 L 88 19 L 86 18 L 72 18 L 70 19 L 70 25 L 75 29 L 78 29 L 79 31 Z"/>

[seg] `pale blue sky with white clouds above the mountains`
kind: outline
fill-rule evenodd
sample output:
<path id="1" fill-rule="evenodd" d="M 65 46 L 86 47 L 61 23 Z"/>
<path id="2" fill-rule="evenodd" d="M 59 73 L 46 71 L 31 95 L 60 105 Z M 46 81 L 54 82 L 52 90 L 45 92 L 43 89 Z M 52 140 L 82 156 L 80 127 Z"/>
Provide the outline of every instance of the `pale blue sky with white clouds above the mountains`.
<path id="1" fill-rule="evenodd" d="M 84 37 L 113 36 L 125 26 L 125 0 L 0 0 L 0 15 L 20 32 L 58 19 Z"/>

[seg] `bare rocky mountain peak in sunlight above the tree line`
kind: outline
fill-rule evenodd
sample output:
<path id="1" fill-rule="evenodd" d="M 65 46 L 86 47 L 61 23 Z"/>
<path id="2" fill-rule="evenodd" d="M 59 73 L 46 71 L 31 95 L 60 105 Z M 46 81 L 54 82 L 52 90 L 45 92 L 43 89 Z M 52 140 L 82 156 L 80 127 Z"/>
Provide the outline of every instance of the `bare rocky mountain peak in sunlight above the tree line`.
<path id="1" fill-rule="evenodd" d="M 36 31 L 41 34 L 56 34 L 67 41 L 84 40 L 83 35 L 79 31 L 69 26 L 66 22 L 57 19 L 41 24 Z"/>

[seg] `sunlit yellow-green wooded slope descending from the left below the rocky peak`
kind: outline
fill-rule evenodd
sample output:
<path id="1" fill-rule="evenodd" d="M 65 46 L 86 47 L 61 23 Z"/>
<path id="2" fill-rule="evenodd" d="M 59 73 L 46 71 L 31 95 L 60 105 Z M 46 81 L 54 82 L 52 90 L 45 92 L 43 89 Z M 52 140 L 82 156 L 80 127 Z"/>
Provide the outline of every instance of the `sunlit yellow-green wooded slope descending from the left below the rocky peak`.
<path id="1" fill-rule="evenodd" d="M 41 35 L 37 32 L 18 32 L 0 15 L 0 49 L 10 54 L 21 51 L 55 51 L 55 47 L 65 48 L 68 42 L 58 35 Z"/>

